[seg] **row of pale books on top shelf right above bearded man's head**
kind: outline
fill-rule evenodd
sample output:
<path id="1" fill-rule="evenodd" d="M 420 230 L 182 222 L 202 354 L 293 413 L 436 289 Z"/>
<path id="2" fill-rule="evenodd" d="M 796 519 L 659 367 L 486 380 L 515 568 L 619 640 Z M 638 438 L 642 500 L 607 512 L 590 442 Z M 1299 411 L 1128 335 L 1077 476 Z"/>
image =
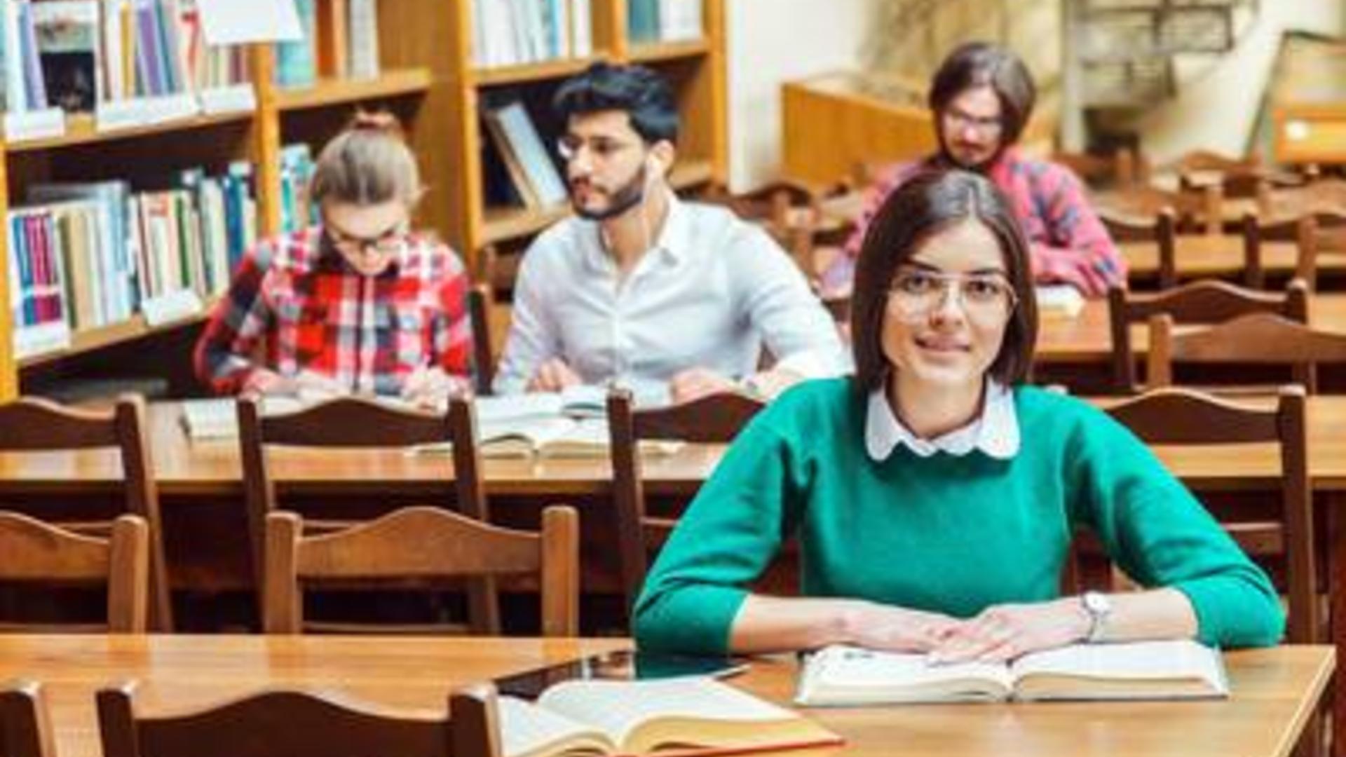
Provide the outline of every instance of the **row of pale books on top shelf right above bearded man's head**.
<path id="1" fill-rule="evenodd" d="M 472 61 L 493 67 L 584 58 L 594 54 L 592 30 L 592 0 L 474 0 Z"/>

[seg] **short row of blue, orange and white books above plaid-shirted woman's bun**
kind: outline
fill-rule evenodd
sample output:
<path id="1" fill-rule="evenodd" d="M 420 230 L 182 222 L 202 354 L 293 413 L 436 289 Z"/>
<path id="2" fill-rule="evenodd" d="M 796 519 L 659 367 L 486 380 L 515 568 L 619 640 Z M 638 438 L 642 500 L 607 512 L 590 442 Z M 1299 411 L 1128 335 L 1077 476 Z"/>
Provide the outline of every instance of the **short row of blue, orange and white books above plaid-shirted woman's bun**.
<path id="1" fill-rule="evenodd" d="M 376 0 L 296 0 L 295 8 L 304 36 L 276 46 L 277 85 L 300 88 L 319 78 L 378 75 Z"/>

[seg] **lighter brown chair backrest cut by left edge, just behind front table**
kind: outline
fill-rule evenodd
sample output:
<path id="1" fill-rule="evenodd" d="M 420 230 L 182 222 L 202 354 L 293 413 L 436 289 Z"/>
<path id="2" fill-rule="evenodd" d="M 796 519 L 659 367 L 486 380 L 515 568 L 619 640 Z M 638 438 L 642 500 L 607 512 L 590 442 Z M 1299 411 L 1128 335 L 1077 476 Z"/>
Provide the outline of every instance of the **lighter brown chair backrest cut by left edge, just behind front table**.
<path id="1" fill-rule="evenodd" d="M 4 555 L 0 558 L 0 581 L 105 585 L 106 630 L 145 630 L 149 617 L 149 527 L 143 517 L 118 516 L 112 521 L 110 535 L 98 537 L 75 533 L 26 515 L 0 512 L 0 555 Z M 42 626 L 17 624 L 5 624 L 4 628 L 44 630 Z"/>

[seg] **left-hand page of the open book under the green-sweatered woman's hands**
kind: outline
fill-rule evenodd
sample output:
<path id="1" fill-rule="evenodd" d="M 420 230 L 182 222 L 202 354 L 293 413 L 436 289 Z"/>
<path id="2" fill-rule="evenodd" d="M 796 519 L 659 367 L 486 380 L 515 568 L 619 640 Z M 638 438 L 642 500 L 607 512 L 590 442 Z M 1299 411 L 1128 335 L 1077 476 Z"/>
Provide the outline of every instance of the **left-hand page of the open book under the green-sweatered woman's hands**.
<path id="1" fill-rule="evenodd" d="M 933 664 L 926 655 L 833 645 L 810 656 L 800 676 L 800 704 L 993 700 L 1008 696 L 1003 664 Z"/>

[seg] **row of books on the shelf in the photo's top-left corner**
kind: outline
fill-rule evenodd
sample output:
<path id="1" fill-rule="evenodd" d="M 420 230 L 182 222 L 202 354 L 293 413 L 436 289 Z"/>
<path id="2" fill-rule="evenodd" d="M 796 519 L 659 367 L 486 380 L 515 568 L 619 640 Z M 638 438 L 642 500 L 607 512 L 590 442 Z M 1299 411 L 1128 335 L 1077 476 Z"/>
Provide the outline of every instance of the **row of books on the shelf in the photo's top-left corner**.
<path id="1" fill-rule="evenodd" d="M 17 0 L 3 22 L 7 112 L 93 112 L 248 81 L 245 50 L 207 46 L 194 0 Z"/>

